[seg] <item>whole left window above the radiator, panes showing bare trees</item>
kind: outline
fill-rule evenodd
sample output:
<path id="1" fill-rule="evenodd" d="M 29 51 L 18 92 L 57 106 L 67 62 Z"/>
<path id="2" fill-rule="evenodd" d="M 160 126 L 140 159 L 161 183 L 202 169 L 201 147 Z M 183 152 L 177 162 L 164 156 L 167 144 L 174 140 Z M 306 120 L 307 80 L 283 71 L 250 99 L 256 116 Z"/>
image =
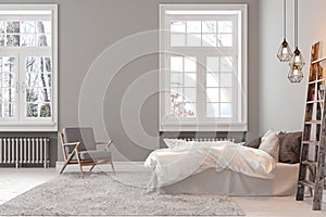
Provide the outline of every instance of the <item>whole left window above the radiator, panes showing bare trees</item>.
<path id="1" fill-rule="evenodd" d="M 57 5 L 0 5 L 0 130 L 57 131 Z"/>

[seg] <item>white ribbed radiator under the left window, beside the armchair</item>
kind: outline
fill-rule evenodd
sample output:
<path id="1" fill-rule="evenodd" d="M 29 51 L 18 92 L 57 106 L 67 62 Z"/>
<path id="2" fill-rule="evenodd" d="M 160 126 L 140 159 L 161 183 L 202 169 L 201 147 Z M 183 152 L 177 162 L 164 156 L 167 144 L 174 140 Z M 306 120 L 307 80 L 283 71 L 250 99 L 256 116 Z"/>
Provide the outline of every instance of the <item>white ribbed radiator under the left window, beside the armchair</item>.
<path id="1" fill-rule="evenodd" d="M 42 164 L 49 167 L 49 138 L 0 138 L 0 164 Z"/>

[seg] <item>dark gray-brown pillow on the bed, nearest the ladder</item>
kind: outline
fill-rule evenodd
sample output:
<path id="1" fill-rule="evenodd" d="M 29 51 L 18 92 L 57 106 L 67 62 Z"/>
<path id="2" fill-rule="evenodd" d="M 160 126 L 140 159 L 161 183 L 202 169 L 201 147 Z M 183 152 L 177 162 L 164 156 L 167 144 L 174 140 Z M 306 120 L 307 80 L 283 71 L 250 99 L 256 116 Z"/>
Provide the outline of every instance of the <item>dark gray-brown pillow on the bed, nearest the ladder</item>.
<path id="1" fill-rule="evenodd" d="M 279 132 L 279 162 L 297 164 L 300 161 L 302 132 Z"/>

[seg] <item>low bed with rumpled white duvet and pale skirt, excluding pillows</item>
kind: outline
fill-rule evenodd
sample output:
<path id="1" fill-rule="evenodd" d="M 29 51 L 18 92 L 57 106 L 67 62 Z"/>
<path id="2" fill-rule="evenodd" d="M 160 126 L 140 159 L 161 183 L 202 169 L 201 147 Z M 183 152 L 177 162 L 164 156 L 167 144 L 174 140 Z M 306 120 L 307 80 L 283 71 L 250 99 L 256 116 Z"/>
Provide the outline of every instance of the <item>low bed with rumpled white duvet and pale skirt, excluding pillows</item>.
<path id="1" fill-rule="evenodd" d="M 230 141 L 171 142 L 174 144 L 153 151 L 145 162 L 153 170 L 149 192 L 265 196 L 296 193 L 298 163 L 279 163 L 273 154 Z M 278 145 L 277 156 L 279 150 Z"/>

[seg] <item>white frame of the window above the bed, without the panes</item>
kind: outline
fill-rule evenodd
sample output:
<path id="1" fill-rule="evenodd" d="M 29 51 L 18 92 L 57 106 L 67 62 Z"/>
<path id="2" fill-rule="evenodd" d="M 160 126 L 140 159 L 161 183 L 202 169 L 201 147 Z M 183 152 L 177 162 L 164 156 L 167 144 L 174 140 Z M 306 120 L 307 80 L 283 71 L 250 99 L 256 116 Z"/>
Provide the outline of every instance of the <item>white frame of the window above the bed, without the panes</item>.
<path id="1" fill-rule="evenodd" d="M 160 119 L 159 119 L 159 129 L 160 131 L 247 131 L 248 130 L 248 91 L 247 91 L 247 77 L 248 77 L 248 9 L 247 4 L 160 4 Z M 175 118 L 168 115 L 170 113 L 170 72 L 166 69 L 168 66 L 168 53 L 174 51 L 180 51 L 181 49 L 172 49 L 170 48 L 170 29 L 167 29 L 166 21 L 168 16 L 165 16 L 166 11 L 199 11 L 204 10 L 206 14 L 210 14 L 212 11 L 222 11 L 222 13 L 238 13 L 238 23 L 241 24 L 238 26 L 238 34 L 241 34 L 239 41 L 238 50 L 241 52 L 238 53 L 237 60 L 237 69 L 240 71 L 238 74 L 238 82 L 240 87 L 237 87 L 236 94 L 238 97 L 237 113 L 233 114 L 233 120 L 223 119 L 223 118 L 203 118 L 202 116 L 196 118 Z M 186 12 L 187 13 L 187 12 Z M 212 12 L 213 13 L 213 12 Z M 204 14 L 203 14 L 204 16 Z M 168 37 L 167 37 L 168 36 Z M 183 51 L 183 54 L 191 55 L 191 51 Z M 214 49 L 211 49 L 212 55 Z M 208 49 L 208 52 L 211 52 Z M 205 53 L 205 56 L 208 54 Z M 196 56 L 202 58 L 199 52 L 196 52 Z M 203 61 L 203 60 L 201 60 Z M 168 68 L 168 67 L 167 67 Z M 201 82 L 200 73 L 198 73 L 199 82 Z M 202 76 L 202 75 L 201 75 Z M 204 78 L 205 80 L 205 78 Z M 203 84 L 205 86 L 205 84 Z M 197 91 L 197 99 L 205 95 L 205 92 Z M 199 95 L 201 94 L 201 95 Z M 205 99 L 205 97 L 203 97 Z M 198 106 L 199 107 L 199 106 Z M 201 108 L 199 108 L 200 111 Z M 233 110 L 235 111 L 235 110 Z M 204 111 L 200 111 L 204 112 Z M 202 113 L 203 114 L 203 113 Z"/>

